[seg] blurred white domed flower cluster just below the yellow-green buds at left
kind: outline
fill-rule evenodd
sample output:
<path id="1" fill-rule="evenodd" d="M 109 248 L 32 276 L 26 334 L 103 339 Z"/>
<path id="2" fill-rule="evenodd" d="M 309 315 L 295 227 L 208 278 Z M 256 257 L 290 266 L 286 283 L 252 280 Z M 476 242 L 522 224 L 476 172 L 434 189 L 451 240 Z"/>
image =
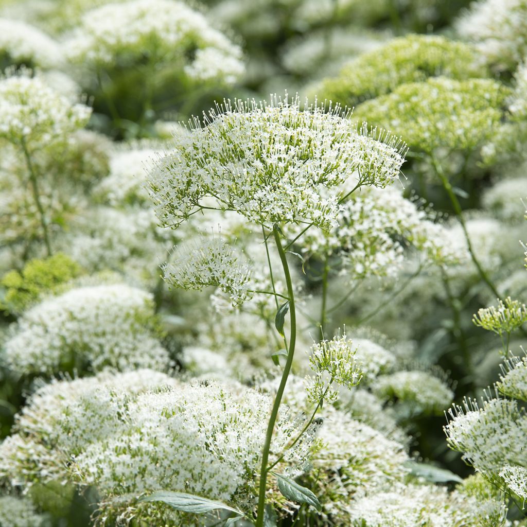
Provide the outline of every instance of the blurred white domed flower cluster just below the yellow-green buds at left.
<path id="1" fill-rule="evenodd" d="M 36 305 L 4 346 L 9 367 L 24 373 L 104 367 L 166 369 L 155 337 L 152 296 L 125 285 L 80 287 Z"/>

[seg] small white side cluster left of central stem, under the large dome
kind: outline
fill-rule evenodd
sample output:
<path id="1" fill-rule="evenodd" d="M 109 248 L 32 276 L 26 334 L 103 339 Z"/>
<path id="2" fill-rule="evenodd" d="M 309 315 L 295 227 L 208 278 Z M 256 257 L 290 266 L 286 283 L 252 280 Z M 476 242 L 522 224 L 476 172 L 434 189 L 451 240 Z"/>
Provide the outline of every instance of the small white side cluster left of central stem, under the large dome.
<path id="1" fill-rule="evenodd" d="M 168 284 L 198 291 L 218 287 L 229 295 L 233 306 L 252 296 L 248 288 L 250 268 L 221 235 L 202 235 L 192 246 L 185 243 L 175 246 L 172 258 L 162 269 Z"/>

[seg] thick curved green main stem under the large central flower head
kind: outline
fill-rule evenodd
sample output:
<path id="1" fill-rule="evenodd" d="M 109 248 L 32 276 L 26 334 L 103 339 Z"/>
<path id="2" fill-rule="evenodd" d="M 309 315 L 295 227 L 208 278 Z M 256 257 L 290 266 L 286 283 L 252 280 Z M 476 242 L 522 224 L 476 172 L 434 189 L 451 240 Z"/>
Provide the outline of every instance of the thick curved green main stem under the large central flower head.
<path id="1" fill-rule="evenodd" d="M 289 372 L 291 371 L 291 365 L 293 362 L 293 355 L 295 354 L 295 343 L 296 343 L 295 296 L 294 296 L 293 286 L 291 282 L 291 275 L 289 273 L 289 266 L 287 264 L 286 253 L 284 251 L 284 248 L 282 247 L 282 242 L 280 240 L 280 233 L 276 227 L 273 229 L 272 232 L 275 237 L 278 254 L 280 255 L 280 261 L 282 262 L 282 267 L 284 268 L 284 277 L 286 279 L 286 285 L 287 285 L 287 296 L 289 297 L 289 319 L 291 323 L 291 328 L 290 328 L 289 349 L 287 353 L 287 360 L 284 366 L 284 372 L 282 372 L 282 378 L 280 379 L 280 385 L 278 386 L 278 391 L 276 392 L 275 402 L 272 405 L 271 416 L 269 417 L 269 423 L 267 424 L 267 433 L 266 433 L 266 438 L 265 438 L 265 443 L 264 443 L 264 450 L 262 451 L 256 527 L 264 527 L 267 474 L 269 472 L 269 469 L 267 467 L 269 463 L 269 450 L 271 448 L 272 433 L 275 430 L 275 423 L 278 417 L 278 410 L 280 408 L 282 396 L 284 395 L 284 390 L 286 388 L 287 377 L 289 376 Z"/>

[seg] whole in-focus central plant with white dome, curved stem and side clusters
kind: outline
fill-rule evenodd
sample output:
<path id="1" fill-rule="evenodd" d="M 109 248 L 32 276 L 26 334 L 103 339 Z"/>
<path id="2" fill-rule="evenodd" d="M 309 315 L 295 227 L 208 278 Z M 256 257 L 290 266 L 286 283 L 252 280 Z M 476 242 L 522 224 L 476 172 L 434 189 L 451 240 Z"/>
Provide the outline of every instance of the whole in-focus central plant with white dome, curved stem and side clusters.
<path id="1" fill-rule="evenodd" d="M 191 249 L 177 248 L 175 261 L 164 266 L 169 284 L 198 290 L 215 286 L 233 305 L 256 295 L 270 295 L 276 300 L 275 325 L 285 346 L 277 355 L 285 356 L 285 364 L 262 445 L 259 474 L 255 474 L 258 505 L 249 519 L 254 519 L 257 527 L 264 525 L 269 514 L 266 491 L 271 473 L 288 500 L 319 506 L 310 490 L 271 472 L 284 457 L 284 453 L 277 453 L 273 460 L 271 441 L 297 340 L 295 287 L 287 252 L 308 230 L 329 231 L 337 226 L 339 211 L 354 192 L 363 186 L 385 187 L 398 178 L 404 161 L 398 140 L 385 136 L 384 142 L 379 141 L 366 128 L 356 128 L 348 116 L 339 106 L 301 104 L 298 97 L 290 100 L 287 95 L 283 100 L 274 96 L 269 103 L 225 101 L 204 116 L 204 126 L 194 119 L 190 133 L 174 139 L 172 149 L 149 177 L 150 195 L 163 226 L 178 228 L 196 215 L 235 212 L 255 231 L 261 231 L 266 247 L 267 261 L 251 263 L 222 239 L 220 231 L 198 238 Z M 294 239 L 286 235 L 290 226 L 301 227 Z M 279 256 L 280 271 L 271 265 L 272 245 Z M 262 265 L 267 267 L 268 290 L 258 287 L 261 281 L 258 285 L 252 281 L 252 269 Z M 285 290 L 276 286 L 280 275 Z M 315 377 L 309 394 L 317 406 L 301 434 L 313 423 L 324 399 L 334 400 L 333 383 L 351 387 L 360 380 L 354 349 L 345 336 L 315 344 L 313 357 Z M 154 494 L 147 498 L 155 499 L 165 497 Z M 190 499 L 177 493 L 167 502 L 188 511 Z M 211 510 L 212 505 L 208 506 Z"/>

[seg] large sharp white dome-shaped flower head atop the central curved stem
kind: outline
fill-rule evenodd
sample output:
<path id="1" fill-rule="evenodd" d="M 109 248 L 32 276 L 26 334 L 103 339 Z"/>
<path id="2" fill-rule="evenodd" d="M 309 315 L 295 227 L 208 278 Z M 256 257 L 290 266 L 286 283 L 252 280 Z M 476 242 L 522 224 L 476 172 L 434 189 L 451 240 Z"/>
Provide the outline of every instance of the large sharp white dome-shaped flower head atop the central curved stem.
<path id="1" fill-rule="evenodd" d="M 179 225 L 199 210 L 236 210 L 257 225 L 336 223 L 340 187 L 384 187 L 404 161 L 399 141 L 357 129 L 339 106 L 226 101 L 194 119 L 188 136 L 158 161 L 149 178 L 159 220 Z"/>

